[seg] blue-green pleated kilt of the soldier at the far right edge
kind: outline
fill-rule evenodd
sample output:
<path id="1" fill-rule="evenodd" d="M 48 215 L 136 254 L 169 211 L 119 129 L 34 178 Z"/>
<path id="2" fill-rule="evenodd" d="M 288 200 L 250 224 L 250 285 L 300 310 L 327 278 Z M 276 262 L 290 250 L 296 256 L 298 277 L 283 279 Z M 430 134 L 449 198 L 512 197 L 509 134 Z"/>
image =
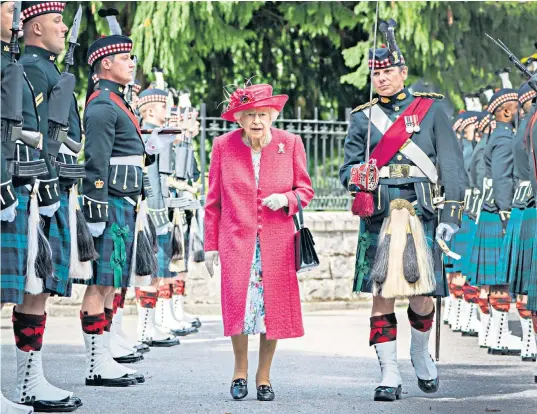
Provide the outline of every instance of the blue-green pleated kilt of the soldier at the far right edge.
<path id="1" fill-rule="evenodd" d="M 508 276 L 510 292 L 517 295 L 525 295 L 533 264 L 533 251 L 537 248 L 535 240 L 537 210 L 534 207 L 528 207 L 524 210 L 513 209 L 509 225 L 511 225 L 513 215 L 515 215 L 515 219 L 519 222 L 518 230 L 514 232 L 510 252 L 506 247 L 507 243 L 504 243 L 501 261 L 502 266 L 505 266 L 505 272 Z"/>

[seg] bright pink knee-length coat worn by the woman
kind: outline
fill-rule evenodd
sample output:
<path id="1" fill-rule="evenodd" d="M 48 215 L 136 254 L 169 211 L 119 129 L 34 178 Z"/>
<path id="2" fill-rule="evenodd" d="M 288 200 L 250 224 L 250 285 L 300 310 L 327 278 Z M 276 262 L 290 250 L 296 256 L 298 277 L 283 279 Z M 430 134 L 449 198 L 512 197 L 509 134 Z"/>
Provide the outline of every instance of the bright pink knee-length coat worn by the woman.
<path id="1" fill-rule="evenodd" d="M 295 271 L 293 214 L 314 191 L 299 136 L 271 128 L 272 141 L 263 149 L 256 189 L 250 147 L 242 129 L 215 138 L 205 204 L 205 251 L 217 250 L 222 266 L 224 335 L 244 327 L 250 268 L 259 234 L 267 339 L 304 335 L 300 293 Z M 283 153 L 281 152 L 283 149 Z M 289 211 L 261 205 L 271 194 L 285 194 Z"/>

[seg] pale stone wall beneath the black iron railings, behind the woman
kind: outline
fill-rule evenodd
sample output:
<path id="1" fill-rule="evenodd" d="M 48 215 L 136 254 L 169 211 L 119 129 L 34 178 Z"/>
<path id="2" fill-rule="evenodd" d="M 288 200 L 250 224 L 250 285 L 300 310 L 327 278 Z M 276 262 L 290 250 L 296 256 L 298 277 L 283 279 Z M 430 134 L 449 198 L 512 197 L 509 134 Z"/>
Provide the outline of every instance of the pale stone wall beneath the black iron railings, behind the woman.
<path id="1" fill-rule="evenodd" d="M 315 248 L 321 265 L 309 272 L 298 275 L 300 294 L 303 303 L 320 302 L 361 302 L 368 295 L 352 293 L 354 262 L 358 241 L 359 219 L 350 212 L 306 212 L 305 226 L 310 229 L 315 240 Z M 187 308 L 198 313 L 215 313 L 220 304 L 220 272 L 216 269 L 213 278 L 209 277 L 203 263 L 190 263 L 187 283 Z M 70 298 L 51 298 L 49 313 L 64 314 L 63 306 L 78 308 L 84 294 L 84 286 L 73 286 Z M 132 303 L 134 292 L 129 289 L 127 303 Z M 323 308 L 330 307 L 329 304 Z M 341 306 L 340 306 L 341 307 Z M 134 308 L 129 310 L 129 313 Z M 7 310 L 6 310 L 7 312 Z"/>

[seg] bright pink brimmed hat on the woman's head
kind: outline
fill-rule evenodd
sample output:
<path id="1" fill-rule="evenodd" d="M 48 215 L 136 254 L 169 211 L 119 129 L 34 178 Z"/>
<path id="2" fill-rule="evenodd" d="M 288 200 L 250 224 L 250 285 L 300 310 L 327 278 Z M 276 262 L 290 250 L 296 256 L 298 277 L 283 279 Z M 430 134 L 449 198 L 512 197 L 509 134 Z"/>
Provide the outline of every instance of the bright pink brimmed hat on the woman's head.
<path id="1" fill-rule="evenodd" d="M 287 95 L 272 95 L 272 86 L 268 84 L 251 85 L 238 88 L 229 97 L 227 110 L 222 114 L 226 121 L 235 122 L 237 112 L 252 108 L 274 108 L 281 112 L 289 97 Z"/>

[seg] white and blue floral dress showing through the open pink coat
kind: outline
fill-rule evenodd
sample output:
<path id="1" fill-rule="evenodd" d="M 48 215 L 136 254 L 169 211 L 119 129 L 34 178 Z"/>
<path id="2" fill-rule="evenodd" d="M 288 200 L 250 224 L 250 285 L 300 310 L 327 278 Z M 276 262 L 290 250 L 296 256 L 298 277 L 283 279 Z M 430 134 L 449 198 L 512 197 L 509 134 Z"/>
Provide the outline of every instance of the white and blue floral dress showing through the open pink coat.
<path id="1" fill-rule="evenodd" d="M 261 166 L 261 153 L 252 151 L 252 163 L 256 186 L 259 186 L 259 168 Z M 263 272 L 261 271 L 261 247 L 259 236 L 255 243 L 254 257 L 250 267 L 250 283 L 246 298 L 246 311 L 244 312 L 244 327 L 242 333 L 254 335 L 266 333 L 265 327 L 265 299 L 263 295 Z"/>

